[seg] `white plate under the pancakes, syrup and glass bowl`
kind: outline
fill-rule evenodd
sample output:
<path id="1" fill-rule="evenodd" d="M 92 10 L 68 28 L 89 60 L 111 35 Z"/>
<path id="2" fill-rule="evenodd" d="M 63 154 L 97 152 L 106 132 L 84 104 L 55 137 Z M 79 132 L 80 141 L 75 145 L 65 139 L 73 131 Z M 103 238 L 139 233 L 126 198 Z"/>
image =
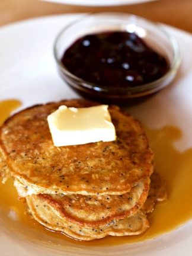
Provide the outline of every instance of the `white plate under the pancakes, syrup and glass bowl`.
<path id="1" fill-rule="evenodd" d="M 17 98 L 23 102 L 24 108 L 32 104 L 78 97 L 59 78 L 52 53 L 56 34 L 76 17 L 59 15 L 37 18 L 1 28 L 0 101 Z M 180 44 L 183 56 L 180 73 L 174 84 L 129 111 L 148 127 L 161 128 L 170 124 L 181 129 L 182 139 L 175 146 L 182 151 L 192 146 L 192 36 L 175 28 L 167 29 Z M 29 231 L 26 227 L 20 232 L 11 232 L 9 226 L 5 226 L 0 209 L 1 255 L 181 256 L 191 255 L 192 251 L 192 222 L 150 241 L 118 247 L 85 247 L 66 242 L 61 248 L 59 245 L 49 245 L 49 241 L 44 244 L 38 234 L 38 243 L 35 239 L 28 240 L 24 233 Z"/>

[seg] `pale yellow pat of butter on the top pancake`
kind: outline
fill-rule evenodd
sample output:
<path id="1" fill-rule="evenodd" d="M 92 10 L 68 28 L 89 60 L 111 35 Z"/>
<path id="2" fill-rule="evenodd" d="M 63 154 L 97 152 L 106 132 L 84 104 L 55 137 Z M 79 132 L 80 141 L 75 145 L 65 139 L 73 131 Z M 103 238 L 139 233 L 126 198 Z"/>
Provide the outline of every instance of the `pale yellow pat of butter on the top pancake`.
<path id="1" fill-rule="evenodd" d="M 74 108 L 61 105 L 47 117 L 55 146 L 108 142 L 116 139 L 116 131 L 108 105 Z"/>

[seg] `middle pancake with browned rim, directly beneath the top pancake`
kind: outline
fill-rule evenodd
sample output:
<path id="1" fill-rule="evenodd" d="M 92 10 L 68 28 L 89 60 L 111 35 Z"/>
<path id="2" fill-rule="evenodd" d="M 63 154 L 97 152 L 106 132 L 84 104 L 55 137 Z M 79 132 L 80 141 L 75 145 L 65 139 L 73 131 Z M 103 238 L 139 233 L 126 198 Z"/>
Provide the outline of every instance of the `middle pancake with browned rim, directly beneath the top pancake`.
<path id="1" fill-rule="evenodd" d="M 145 202 L 148 190 L 149 180 L 140 181 L 129 193 L 122 195 L 38 194 L 28 197 L 49 204 L 69 222 L 95 227 L 135 214 Z"/>

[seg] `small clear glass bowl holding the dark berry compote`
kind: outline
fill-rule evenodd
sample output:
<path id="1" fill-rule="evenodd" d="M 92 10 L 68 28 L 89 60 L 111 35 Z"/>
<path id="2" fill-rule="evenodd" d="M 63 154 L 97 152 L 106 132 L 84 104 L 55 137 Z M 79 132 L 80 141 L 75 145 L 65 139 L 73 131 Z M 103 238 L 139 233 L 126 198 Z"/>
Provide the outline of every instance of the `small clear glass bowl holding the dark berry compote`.
<path id="1" fill-rule="evenodd" d="M 148 84 L 135 87 L 109 87 L 85 81 L 69 72 L 61 61 L 66 49 L 85 35 L 105 31 L 135 33 L 155 52 L 168 60 L 169 69 L 167 73 Z M 161 24 L 153 23 L 135 15 L 110 12 L 82 15 L 81 18 L 63 28 L 54 43 L 54 56 L 63 81 L 85 98 L 106 103 L 129 103 L 132 99 L 153 94 L 172 82 L 180 66 L 180 50 L 177 41 Z"/>

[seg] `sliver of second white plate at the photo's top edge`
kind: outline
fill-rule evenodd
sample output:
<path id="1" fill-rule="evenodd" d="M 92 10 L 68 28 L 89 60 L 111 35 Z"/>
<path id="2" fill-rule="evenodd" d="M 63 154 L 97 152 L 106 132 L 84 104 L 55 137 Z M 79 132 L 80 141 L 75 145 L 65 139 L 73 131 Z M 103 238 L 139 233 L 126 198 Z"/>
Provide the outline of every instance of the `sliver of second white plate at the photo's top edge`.
<path id="1" fill-rule="evenodd" d="M 69 5 L 114 6 L 114 5 L 139 4 L 142 2 L 150 2 L 155 0 L 43 0 L 43 1 L 57 2 L 60 4 L 69 4 Z"/>

